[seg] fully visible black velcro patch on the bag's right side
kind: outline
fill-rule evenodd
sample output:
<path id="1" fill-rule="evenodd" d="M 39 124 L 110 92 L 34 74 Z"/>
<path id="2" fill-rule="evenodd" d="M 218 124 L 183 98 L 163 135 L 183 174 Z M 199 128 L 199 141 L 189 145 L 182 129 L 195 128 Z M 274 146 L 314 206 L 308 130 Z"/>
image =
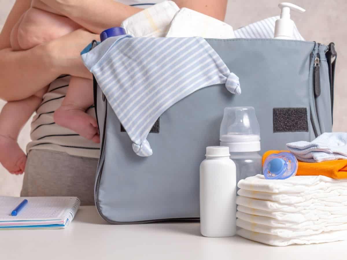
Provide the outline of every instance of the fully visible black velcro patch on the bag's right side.
<path id="1" fill-rule="evenodd" d="M 275 107 L 273 132 L 308 132 L 306 107 Z"/>

